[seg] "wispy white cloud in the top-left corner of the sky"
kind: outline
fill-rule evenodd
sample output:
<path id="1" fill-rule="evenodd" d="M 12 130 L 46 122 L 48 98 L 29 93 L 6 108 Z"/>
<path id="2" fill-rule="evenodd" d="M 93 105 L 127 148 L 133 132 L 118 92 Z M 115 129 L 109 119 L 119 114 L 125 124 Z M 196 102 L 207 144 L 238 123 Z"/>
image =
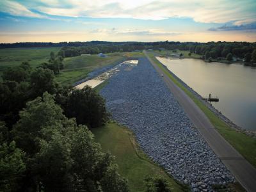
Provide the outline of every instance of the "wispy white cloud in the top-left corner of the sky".
<path id="1" fill-rule="evenodd" d="M 0 12 L 10 13 L 10 15 L 24 16 L 24 17 L 42 17 L 37 13 L 33 13 L 28 8 L 20 3 L 9 0 L 0 1 Z"/>

